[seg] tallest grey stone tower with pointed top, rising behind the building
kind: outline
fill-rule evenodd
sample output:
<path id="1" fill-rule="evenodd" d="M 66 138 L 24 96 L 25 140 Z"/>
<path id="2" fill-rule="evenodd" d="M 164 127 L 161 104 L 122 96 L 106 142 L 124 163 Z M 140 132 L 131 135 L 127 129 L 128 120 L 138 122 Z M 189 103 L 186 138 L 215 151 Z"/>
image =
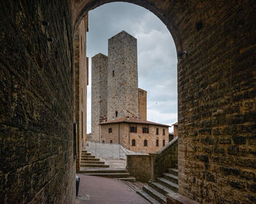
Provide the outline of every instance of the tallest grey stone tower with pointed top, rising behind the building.
<path id="1" fill-rule="evenodd" d="M 138 117 L 137 39 L 125 31 L 108 40 L 108 120 Z"/>

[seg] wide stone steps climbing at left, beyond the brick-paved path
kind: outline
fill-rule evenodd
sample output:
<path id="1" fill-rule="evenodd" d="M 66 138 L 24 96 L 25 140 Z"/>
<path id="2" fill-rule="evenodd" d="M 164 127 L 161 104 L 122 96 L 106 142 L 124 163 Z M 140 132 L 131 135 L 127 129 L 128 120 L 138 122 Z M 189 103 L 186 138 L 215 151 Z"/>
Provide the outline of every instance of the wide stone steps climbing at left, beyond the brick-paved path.
<path id="1" fill-rule="evenodd" d="M 78 173 L 88 176 L 118 178 L 118 180 L 122 181 L 135 181 L 135 178 L 129 176 L 126 169 L 110 168 L 104 161 L 91 155 L 86 150 L 83 150 L 81 154 L 80 171 Z"/>

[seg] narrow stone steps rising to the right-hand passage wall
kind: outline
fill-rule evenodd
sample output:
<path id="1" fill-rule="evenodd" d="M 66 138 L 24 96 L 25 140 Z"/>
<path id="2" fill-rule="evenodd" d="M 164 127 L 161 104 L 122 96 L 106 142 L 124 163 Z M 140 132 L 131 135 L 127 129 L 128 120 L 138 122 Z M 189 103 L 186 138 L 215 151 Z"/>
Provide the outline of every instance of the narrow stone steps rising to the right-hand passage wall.
<path id="1" fill-rule="evenodd" d="M 138 194 L 145 197 L 150 203 L 166 204 L 168 193 L 178 192 L 178 165 L 176 168 L 169 168 L 168 173 L 163 173 L 157 181 L 149 181 Z"/>

